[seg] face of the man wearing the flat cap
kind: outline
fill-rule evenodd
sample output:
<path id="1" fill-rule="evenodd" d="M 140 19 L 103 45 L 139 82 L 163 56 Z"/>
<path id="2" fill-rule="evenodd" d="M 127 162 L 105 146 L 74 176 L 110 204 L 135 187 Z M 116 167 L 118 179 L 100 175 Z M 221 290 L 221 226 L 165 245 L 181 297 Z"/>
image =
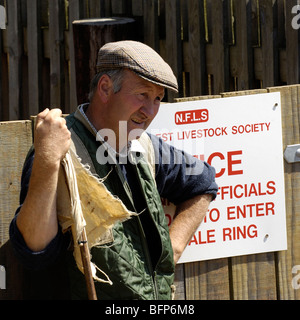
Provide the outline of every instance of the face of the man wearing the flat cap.
<path id="1" fill-rule="evenodd" d="M 164 88 L 144 80 L 135 73 L 125 70 L 122 88 L 108 99 L 105 114 L 106 128 L 112 129 L 117 141 L 119 122 L 127 123 L 127 138 L 134 129 L 146 130 L 156 116 L 164 97 Z"/>

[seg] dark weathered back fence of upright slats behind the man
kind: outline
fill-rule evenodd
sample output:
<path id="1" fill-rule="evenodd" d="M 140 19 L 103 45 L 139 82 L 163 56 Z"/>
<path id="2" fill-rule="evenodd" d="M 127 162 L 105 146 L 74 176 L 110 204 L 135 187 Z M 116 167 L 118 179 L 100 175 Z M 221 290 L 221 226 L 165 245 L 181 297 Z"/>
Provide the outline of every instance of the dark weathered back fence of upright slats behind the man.
<path id="1" fill-rule="evenodd" d="M 72 21 L 123 16 L 178 77 L 174 97 L 299 83 L 298 0 L 0 0 L 0 120 L 76 108 Z M 297 12 L 297 11 L 296 11 Z"/>

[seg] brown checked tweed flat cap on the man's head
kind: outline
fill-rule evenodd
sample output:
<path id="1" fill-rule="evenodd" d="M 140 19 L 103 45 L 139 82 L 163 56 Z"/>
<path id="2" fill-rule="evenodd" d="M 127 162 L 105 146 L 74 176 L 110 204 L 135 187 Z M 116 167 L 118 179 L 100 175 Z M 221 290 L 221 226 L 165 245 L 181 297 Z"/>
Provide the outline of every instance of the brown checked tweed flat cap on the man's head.
<path id="1" fill-rule="evenodd" d="M 178 92 L 171 67 L 149 46 L 137 41 L 105 44 L 98 52 L 97 72 L 128 68 L 152 83 Z"/>

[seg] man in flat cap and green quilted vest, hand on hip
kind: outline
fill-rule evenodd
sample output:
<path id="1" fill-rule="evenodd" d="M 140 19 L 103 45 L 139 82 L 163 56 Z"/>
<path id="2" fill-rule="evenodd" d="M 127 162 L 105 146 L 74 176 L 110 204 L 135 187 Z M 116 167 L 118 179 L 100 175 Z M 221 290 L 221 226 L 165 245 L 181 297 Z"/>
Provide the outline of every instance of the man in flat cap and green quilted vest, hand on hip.
<path id="1" fill-rule="evenodd" d="M 93 263 L 113 283 L 96 282 L 98 298 L 170 299 L 174 266 L 216 197 L 215 171 L 157 137 L 150 140 L 142 134 L 156 116 L 165 88 L 177 91 L 171 68 L 155 51 L 135 41 L 106 44 L 99 50 L 97 71 L 89 104 L 79 106 L 66 120 L 58 109 L 37 116 L 34 151 L 24 165 L 11 241 L 29 268 L 43 268 L 67 250 L 70 238 L 62 235 L 56 199 L 60 163 L 72 139 L 77 141 L 76 152 L 81 150 L 79 156 L 88 154 L 95 173 L 106 177 L 109 192 L 139 214 L 117 223 L 91 249 Z M 134 150 L 133 141 L 145 140 L 145 135 L 146 145 L 153 145 L 155 180 L 151 165 L 140 161 L 144 149 Z M 177 205 L 170 229 L 161 197 Z M 84 299 L 84 277 L 71 254 L 69 260 L 72 297 Z"/>

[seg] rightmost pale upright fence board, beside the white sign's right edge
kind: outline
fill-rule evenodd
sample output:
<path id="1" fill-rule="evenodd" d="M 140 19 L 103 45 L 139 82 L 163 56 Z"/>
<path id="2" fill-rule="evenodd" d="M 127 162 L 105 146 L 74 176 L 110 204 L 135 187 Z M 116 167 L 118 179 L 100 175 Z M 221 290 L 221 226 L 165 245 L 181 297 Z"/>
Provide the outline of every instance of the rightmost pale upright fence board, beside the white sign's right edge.
<path id="1" fill-rule="evenodd" d="M 283 148 L 300 143 L 300 86 L 273 87 L 281 93 Z M 284 150 L 283 150 L 284 151 Z M 278 254 L 278 287 L 282 300 L 299 300 L 300 291 L 292 287 L 292 268 L 300 261 L 300 163 L 284 163 L 288 250 Z"/>

